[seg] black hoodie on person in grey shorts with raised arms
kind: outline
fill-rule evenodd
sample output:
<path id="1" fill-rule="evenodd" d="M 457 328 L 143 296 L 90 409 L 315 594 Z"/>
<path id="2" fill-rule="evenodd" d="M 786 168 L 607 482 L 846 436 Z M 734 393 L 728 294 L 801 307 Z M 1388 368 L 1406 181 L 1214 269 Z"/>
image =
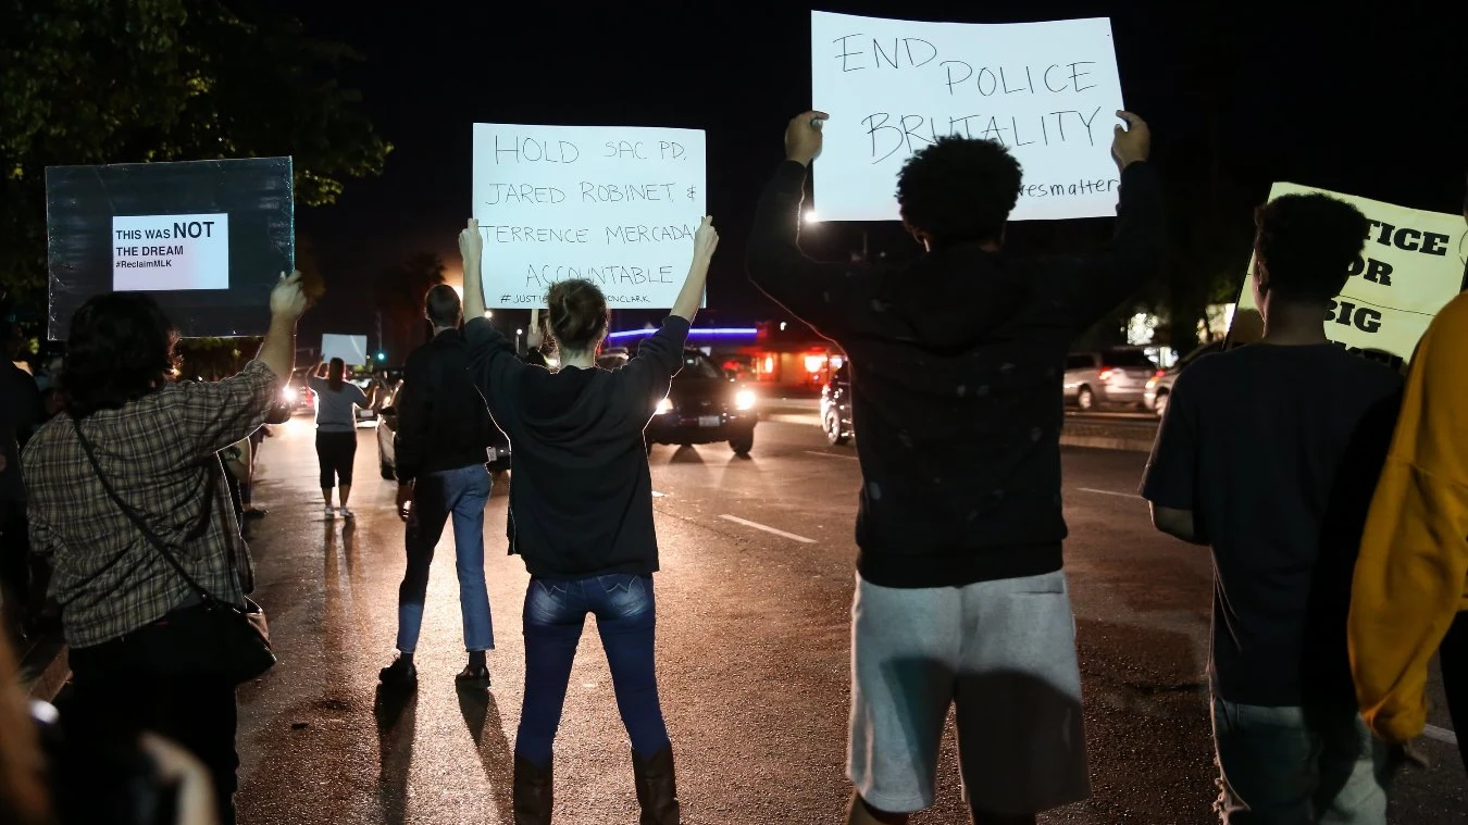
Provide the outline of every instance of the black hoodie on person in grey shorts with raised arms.
<path id="1" fill-rule="evenodd" d="M 1066 354 L 1160 269 L 1155 173 L 1122 173 L 1116 235 L 1094 257 L 960 244 L 897 269 L 807 258 L 804 179 L 785 161 L 765 186 L 749 276 L 851 360 L 857 571 L 885 587 L 944 587 L 1060 570 Z"/>

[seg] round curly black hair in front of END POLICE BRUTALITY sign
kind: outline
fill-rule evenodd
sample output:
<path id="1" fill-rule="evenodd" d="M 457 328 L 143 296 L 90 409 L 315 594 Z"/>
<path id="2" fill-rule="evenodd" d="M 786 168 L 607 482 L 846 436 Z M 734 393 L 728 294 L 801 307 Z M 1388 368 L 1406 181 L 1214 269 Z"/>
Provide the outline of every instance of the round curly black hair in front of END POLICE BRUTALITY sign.
<path id="1" fill-rule="evenodd" d="M 998 241 L 1022 179 L 1004 144 L 948 135 L 907 159 L 897 175 L 897 203 L 903 223 L 934 242 Z"/>

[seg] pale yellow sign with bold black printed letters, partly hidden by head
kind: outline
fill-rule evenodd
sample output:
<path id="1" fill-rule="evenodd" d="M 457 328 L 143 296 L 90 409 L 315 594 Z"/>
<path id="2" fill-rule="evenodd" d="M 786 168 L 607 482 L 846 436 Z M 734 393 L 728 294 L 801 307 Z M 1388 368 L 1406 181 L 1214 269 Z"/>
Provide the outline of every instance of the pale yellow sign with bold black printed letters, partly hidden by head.
<path id="1" fill-rule="evenodd" d="M 1337 346 L 1384 363 L 1409 360 L 1418 339 L 1464 280 L 1468 226 L 1461 214 L 1443 214 L 1342 195 L 1298 183 L 1274 183 L 1270 200 L 1323 194 L 1355 206 L 1371 222 L 1365 248 L 1351 266 L 1351 279 L 1326 311 L 1326 336 Z M 1254 272 L 1249 260 L 1248 272 Z M 1230 344 L 1262 335 L 1251 276 L 1245 276 Z"/>

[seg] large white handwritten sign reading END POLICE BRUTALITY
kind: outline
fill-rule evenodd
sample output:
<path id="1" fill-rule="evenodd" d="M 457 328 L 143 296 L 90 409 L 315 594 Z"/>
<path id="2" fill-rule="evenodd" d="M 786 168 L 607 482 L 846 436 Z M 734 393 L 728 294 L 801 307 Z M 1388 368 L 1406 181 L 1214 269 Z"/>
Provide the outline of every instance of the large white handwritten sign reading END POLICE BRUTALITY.
<path id="1" fill-rule="evenodd" d="M 942 135 L 1003 142 L 1025 167 L 1014 220 L 1110 217 L 1122 106 L 1111 22 L 929 23 L 810 13 L 821 220 L 897 220 L 897 172 Z"/>

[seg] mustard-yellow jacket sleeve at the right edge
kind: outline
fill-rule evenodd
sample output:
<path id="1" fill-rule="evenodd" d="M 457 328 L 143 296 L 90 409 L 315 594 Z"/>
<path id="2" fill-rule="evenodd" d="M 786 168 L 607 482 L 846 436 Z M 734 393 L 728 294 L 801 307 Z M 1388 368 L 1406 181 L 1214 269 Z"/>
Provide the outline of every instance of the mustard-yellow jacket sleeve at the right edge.
<path id="1" fill-rule="evenodd" d="M 1367 724 L 1405 743 L 1427 724 L 1427 665 L 1468 609 L 1468 294 L 1417 345 L 1351 596 L 1351 669 Z"/>

